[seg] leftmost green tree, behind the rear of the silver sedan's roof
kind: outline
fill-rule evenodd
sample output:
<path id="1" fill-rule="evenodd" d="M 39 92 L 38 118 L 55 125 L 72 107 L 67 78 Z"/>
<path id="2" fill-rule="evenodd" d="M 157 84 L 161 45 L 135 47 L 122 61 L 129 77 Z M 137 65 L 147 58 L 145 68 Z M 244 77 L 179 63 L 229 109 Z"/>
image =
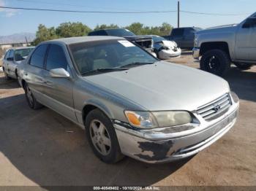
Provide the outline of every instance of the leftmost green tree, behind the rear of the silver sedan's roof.
<path id="1" fill-rule="evenodd" d="M 40 24 L 37 29 L 36 39 L 34 39 L 34 42 L 32 44 L 37 45 L 40 42 L 58 38 L 59 36 L 56 35 L 54 27 L 47 28 L 44 25 Z"/>

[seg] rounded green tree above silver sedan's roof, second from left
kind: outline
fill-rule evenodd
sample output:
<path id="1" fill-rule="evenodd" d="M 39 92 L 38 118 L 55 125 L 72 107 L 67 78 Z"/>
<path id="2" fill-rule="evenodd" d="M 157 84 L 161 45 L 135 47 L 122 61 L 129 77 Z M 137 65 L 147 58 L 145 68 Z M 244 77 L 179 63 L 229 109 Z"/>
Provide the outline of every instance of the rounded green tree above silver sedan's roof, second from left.
<path id="1" fill-rule="evenodd" d="M 86 36 L 91 31 L 83 23 L 61 23 L 59 27 L 56 28 L 56 34 L 60 37 L 72 37 L 72 36 Z"/>

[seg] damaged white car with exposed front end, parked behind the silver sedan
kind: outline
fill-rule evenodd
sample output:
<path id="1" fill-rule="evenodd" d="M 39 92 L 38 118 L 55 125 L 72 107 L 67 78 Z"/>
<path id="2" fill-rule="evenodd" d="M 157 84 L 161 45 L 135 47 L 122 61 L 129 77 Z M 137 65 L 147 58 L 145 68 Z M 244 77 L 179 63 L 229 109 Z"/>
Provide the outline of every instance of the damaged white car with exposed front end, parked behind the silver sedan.
<path id="1" fill-rule="evenodd" d="M 157 58 L 164 60 L 181 55 L 181 48 L 178 47 L 176 42 L 169 41 L 162 36 L 151 36 L 154 40 L 154 52 L 157 54 Z"/>

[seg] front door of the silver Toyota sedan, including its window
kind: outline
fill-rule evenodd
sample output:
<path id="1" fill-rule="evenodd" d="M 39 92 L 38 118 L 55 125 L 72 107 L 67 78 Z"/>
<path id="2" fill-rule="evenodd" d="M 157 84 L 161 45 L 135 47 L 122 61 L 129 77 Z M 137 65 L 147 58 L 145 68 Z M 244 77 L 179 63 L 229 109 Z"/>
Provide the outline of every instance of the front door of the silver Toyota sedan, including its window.
<path id="1" fill-rule="evenodd" d="M 68 64 L 69 57 L 66 55 L 68 55 L 66 47 L 50 44 L 45 62 L 44 94 L 48 97 L 47 106 L 76 121 L 73 103 L 73 79 Z M 69 72 L 70 78 L 50 77 L 51 69 L 65 69 Z"/>

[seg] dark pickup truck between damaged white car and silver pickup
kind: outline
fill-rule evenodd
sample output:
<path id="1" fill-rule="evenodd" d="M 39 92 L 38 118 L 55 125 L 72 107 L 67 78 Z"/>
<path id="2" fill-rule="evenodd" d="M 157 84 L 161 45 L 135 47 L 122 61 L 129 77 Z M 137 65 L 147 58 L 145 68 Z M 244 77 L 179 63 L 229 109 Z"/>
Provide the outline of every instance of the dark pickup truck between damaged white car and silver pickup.
<path id="1" fill-rule="evenodd" d="M 169 36 L 163 36 L 165 39 L 174 41 L 178 47 L 191 49 L 194 47 L 195 32 L 202 30 L 197 27 L 173 28 Z"/>

